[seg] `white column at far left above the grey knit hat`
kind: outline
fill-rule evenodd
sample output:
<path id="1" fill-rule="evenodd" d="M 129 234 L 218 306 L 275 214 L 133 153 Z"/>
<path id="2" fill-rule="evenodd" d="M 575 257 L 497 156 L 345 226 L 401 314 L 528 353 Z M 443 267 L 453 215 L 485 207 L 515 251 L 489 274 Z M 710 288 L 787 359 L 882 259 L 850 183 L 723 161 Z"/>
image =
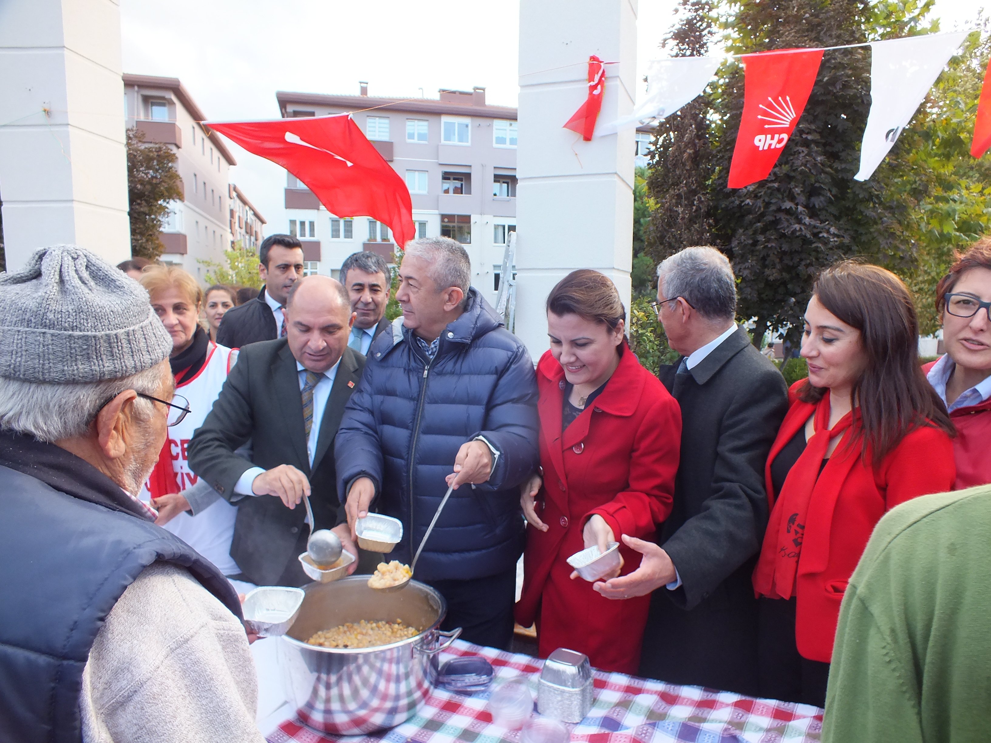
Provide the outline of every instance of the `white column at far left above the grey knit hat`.
<path id="1" fill-rule="evenodd" d="M 0 1 L 0 200 L 8 270 L 56 243 L 131 257 L 116 0 Z"/>

